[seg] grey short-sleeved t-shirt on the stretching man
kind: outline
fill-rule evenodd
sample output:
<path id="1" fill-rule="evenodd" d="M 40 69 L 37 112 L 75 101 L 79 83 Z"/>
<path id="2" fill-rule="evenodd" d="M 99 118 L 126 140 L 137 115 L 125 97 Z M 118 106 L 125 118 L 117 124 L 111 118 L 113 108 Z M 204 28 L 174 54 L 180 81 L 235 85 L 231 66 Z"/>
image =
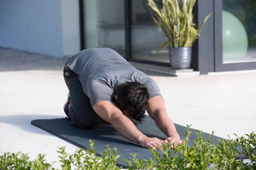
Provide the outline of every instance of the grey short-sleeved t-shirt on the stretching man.
<path id="1" fill-rule="evenodd" d="M 161 95 L 152 78 L 132 67 L 126 59 L 109 48 L 80 51 L 66 66 L 78 75 L 92 107 L 100 101 L 112 101 L 115 87 L 125 82 L 146 85 L 149 98 Z"/>

